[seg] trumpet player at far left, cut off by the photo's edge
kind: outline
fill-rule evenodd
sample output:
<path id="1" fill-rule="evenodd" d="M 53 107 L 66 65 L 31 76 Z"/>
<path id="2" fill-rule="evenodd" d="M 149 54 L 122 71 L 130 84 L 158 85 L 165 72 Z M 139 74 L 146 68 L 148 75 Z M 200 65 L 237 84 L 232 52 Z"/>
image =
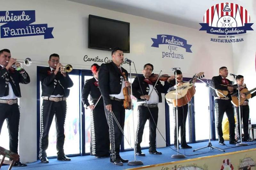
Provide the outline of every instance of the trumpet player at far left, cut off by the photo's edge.
<path id="1" fill-rule="evenodd" d="M 11 58 L 9 49 L 0 50 L 0 133 L 6 119 L 10 151 L 18 154 L 20 83 L 28 84 L 30 78 L 24 69 L 18 71 L 12 68 L 15 63 L 16 59 Z M 27 166 L 27 164 L 19 160 L 14 163 L 14 166 Z"/>

